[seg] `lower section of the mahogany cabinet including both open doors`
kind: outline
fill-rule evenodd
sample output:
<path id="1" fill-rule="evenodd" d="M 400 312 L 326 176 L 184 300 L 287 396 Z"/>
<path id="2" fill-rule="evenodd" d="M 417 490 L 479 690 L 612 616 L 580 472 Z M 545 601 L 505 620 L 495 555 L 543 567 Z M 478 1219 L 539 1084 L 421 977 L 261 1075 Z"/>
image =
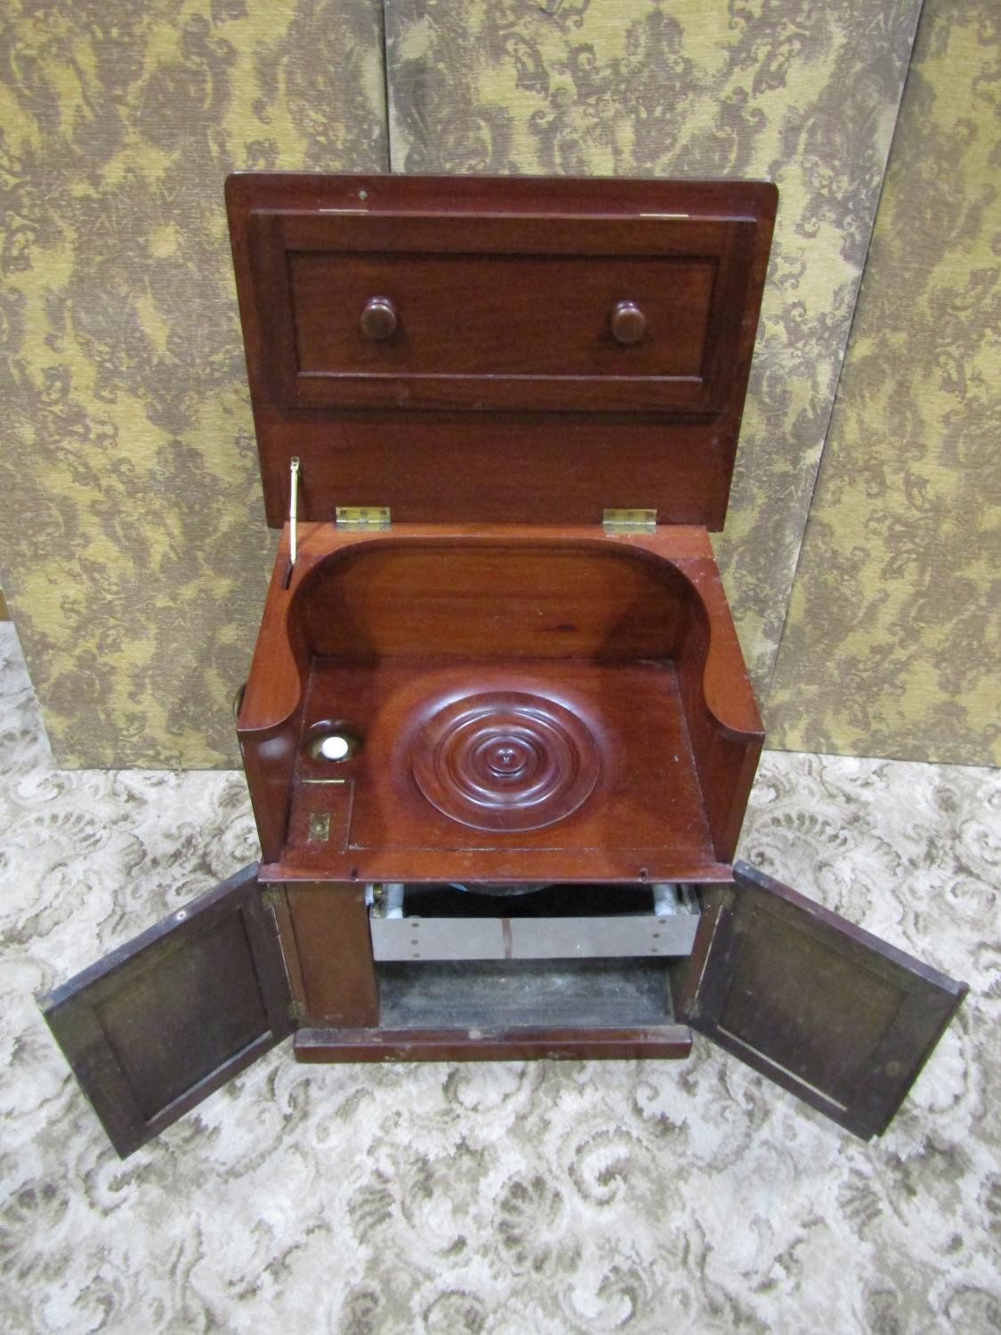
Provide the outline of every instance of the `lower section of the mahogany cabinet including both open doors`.
<path id="1" fill-rule="evenodd" d="M 39 999 L 123 1157 L 292 1032 L 300 1061 L 663 1059 L 687 1055 L 691 1025 L 868 1139 L 966 992 L 742 862 L 697 914 L 666 885 L 410 886 L 411 909 L 459 924 L 510 921 L 521 900 L 551 928 L 566 908 L 559 949 L 574 921 L 583 948 L 594 924 L 697 917 L 690 955 L 659 957 L 641 937 L 618 957 L 376 960 L 375 889 L 267 885 L 252 865 Z M 408 925 L 398 889 L 383 908 Z"/>

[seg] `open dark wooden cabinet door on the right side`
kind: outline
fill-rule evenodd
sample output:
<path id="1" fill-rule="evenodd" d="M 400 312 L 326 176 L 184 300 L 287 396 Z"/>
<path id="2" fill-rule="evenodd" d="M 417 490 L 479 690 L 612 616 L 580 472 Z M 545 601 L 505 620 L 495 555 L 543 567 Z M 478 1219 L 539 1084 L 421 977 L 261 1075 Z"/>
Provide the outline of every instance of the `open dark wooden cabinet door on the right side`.
<path id="1" fill-rule="evenodd" d="M 966 984 L 746 862 L 706 893 L 679 1019 L 868 1140 L 886 1129 Z"/>

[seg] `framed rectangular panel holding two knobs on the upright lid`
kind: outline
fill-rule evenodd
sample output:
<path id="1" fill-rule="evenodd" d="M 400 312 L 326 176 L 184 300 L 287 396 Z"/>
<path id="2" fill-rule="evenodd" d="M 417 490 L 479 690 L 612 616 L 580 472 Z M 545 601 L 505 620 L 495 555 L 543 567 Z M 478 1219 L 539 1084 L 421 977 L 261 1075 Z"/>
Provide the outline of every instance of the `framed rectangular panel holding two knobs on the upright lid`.
<path id="1" fill-rule="evenodd" d="M 251 215 L 287 407 L 721 410 L 754 223 Z M 368 336 L 368 303 L 392 331 Z M 635 342 L 615 336 L 631 303 Z M 630 336 L 630 331 L 625 331 Z"/>

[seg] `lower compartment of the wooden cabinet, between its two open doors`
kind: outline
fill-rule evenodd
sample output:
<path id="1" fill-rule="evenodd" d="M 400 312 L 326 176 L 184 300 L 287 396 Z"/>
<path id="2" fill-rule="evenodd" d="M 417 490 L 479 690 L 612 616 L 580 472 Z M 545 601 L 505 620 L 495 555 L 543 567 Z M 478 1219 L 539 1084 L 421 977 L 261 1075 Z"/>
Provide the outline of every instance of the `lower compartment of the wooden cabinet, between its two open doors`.
<path id="1" fill-rule="evenodd" d="M 670 960 L 689 955 L 695 937 L 691 889 L 286 893 L 290 972 L 302 980 L 299 1060 L 682 1057 L 691 1047 L 687 1028 L 674 1023 L 669 977 Z M 344 930 L 360 948 L 350 977 L 326 944 Z"/>

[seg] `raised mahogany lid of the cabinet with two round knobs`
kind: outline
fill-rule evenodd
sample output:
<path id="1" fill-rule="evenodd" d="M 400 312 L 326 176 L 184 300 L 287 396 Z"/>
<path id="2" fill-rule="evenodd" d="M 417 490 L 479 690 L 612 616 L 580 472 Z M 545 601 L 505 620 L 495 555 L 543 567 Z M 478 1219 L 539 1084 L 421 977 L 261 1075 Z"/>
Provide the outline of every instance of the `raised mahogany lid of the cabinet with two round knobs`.
<path id="1" fill-rule="evenodd" d="M 722 527 L 777 192 L 762 182 L 227 182 L 268 523 Z"/>

